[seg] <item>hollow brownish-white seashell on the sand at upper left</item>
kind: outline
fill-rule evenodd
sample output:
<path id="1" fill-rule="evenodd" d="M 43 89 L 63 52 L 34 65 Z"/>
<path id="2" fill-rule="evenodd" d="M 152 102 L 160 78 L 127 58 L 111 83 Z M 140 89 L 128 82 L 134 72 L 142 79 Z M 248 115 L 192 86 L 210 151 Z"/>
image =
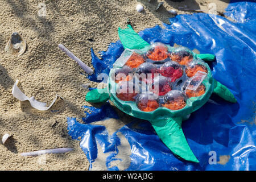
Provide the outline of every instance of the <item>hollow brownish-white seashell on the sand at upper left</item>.
<path id="1" fill-rule="evenodd" d="M 26 51 L 26 47 L 26 41 L 22 36 L 14 32 L 5 46 L 5 51 L 12 55 L 20 56 Z"/>

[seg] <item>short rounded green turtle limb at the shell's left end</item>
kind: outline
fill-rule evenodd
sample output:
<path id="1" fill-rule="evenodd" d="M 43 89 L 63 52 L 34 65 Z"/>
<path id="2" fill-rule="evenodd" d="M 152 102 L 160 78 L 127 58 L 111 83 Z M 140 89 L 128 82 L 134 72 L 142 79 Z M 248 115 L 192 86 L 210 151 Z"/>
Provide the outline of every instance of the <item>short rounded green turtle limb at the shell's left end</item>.
<path id="1" fill-rule="evenodd" d="M 108 100 L 109 93 L 107 88 L 90 90 L 85 96 L 85 101 L 92 103 L 106 102 Z"/>

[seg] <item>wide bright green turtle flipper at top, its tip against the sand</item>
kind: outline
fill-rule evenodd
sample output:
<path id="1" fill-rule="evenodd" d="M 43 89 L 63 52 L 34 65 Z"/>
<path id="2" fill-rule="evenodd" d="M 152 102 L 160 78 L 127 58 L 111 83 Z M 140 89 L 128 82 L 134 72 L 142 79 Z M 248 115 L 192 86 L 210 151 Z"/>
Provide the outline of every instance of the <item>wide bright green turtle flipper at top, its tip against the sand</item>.
<path id="1" fill-rule="evenodd" d="M 142 49 L 149 45 L 131 28 L 130 24 L 127 27 L 126 29 L 118 28 L 118 36 L 123 44 L 123 48 Z"/>

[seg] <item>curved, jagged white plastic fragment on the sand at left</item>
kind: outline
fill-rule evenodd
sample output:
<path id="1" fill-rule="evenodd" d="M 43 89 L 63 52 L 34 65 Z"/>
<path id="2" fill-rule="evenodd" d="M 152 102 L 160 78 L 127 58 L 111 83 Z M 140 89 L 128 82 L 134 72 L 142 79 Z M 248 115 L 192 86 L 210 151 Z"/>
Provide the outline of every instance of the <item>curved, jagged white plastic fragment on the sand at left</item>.
<path id="1" fill-rule="evenodd" d="M 58 96 L 56 94 L 56 97 L 55 99 L 52 101 L 51 105 L 49 105 L 48 107 L 46 107 L 46 103 L 45 102 L 39 102 L 37 100 L 35 100 L 35 97 L 32 96 L 32 97 L 27 97 L 19 88 L 18 88 L 18 82 L 19 80 L 16 80 L 15 81 L 15 84 L 13 86 L 13 90 L 11 90 L 11 93 L 13 94 L 13 96 L 15 98 L 18 98 L 19 101 L 29 101 L 31 106 L 34 107 L 35 109 L 38 109 L 38 110 L 48 110 L 54 103 L 55 101 L 57 100 Z M 61 97 L 60 97 L 61 98 Z M 63 99 L 63 98 L 61 98 Z"/>

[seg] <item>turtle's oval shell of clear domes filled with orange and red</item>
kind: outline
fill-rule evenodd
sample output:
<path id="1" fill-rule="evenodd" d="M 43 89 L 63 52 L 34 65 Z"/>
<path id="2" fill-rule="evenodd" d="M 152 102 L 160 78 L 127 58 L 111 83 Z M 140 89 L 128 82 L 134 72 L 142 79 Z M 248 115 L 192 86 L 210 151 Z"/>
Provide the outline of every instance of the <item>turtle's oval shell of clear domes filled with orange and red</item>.
<path id="1" fill-rule="evenodd" d="M 124 75 L 127 71 L 133 74 L 129 82 L 133 83 L 136 94 L 133 89 L 133 93 L 125 89 L 127 97 L 132 95 L 133 99 L 120 99 L 117 92 L 125 84 L 121 84 L 122 81 L 117 83 L 113 77 L 108 79 L 110 100 L 120 110 L 149 121 L 184 118 L 208 101 L 214 86 L 212 72 L 208 64 L 188 48 L 153 43 L 132 51 L 134 53 L 127 54 L 128 57 L 121 56 L 115 61 L 110 74 L 117 75 L 122 70 Z M 130 69 L 127 68 L 129 65 Z M 125 93 L 122 94 L 125 96 Z"/>

